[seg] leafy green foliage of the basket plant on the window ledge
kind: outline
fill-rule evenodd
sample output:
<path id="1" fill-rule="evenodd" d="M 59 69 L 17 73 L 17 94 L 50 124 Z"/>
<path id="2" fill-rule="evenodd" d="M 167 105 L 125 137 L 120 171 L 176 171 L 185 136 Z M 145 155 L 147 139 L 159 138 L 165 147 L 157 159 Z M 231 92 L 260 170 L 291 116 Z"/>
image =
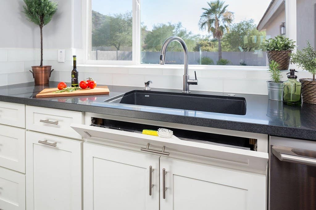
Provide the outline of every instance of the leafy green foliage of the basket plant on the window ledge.
<path id="1" fill-rule="evenodd" d="M 295 42 L 292 39 L 277 35 L 274 38 L 265 40 L 264 48 L 266 51 L 281 51 L 281 50 L 292 50 L 295 47 Z"/>

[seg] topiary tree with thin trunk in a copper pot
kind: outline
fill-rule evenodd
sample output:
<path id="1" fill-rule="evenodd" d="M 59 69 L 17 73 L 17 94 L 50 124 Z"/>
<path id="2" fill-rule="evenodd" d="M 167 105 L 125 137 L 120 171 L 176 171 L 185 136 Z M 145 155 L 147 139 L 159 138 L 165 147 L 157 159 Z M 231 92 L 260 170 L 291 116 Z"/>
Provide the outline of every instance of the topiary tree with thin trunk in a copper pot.
<path id="1" fill-rule="evenodd" d="M 32 74 L 35 84 L 49 82 L 52 66 L 43 66 L 43 27 L 47 25 L 57 11 L 58 3 L 50 0 L 24 0 L 23 12 L 26 19 L 40 26 L 40 65 L 32 66 Z"/>

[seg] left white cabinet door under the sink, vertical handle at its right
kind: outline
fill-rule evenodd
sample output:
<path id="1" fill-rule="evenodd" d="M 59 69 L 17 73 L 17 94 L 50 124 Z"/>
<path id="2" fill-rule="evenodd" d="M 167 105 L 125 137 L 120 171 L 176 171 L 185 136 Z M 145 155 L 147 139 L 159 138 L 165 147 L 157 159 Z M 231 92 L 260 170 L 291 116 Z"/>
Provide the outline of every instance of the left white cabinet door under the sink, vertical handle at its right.
<path id="1" fill-rule="evenodd" d="M 159 210 L 159 157 L 84 143 L 83 191 L 84 210 Z"/>

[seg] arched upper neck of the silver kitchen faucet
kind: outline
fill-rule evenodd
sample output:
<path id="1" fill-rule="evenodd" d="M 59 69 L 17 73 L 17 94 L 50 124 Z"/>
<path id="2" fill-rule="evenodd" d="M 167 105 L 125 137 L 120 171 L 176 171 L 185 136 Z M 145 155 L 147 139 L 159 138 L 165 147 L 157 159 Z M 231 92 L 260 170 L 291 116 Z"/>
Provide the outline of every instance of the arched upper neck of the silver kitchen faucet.
<path id="1" fill-rule="evenodd" d="M 166 41 L 163 43 L 162 48 L 161 48 L 161 55 L 160 55 L 159 64 L 162 64 L 162 65 L 165 64 L 167 47 L 173 41 L 179 42 L 183 48 L 184 75 L 188 75 L 188 48 L 186 47 L 184 40 L 181 39 L 180 37 L 173 36 L 173 37 L 169 37 L 166 39 Z"/>

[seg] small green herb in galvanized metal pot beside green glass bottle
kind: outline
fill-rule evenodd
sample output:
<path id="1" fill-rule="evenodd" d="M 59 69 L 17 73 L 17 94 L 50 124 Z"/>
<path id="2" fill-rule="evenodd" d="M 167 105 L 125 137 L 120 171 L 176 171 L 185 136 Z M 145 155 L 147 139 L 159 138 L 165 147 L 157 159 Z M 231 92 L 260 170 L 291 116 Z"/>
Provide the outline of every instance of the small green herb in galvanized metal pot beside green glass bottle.
<path id="1" fill-rule="evenodd" d="M 269 64 L 269 72 L 271 80 L 267 81 L 268 85 L 268 98 L 271 100 L 282 101 L 283 100 L 283 77 L 280 71 L 280 65 L 272 60 Z"/>

